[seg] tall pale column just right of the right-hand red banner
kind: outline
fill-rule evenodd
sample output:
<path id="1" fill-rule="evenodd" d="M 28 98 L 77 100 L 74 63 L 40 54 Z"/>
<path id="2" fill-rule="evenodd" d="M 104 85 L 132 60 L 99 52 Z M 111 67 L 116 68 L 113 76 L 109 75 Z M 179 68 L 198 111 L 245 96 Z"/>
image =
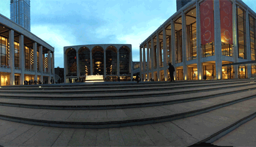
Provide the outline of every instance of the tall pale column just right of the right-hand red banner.
<path id="1" fill-rule="evenodd" d="M 234 63 L 238 62 L 238 42 L 237 42 L 237 13 L 236 13 L 236 1 L 232 1 L 233 5 L 233 58 L 234 58 Z M 233 66 L 233 71 L 234 71 L 234 78 L 238 78 L 238 66 L 234 65 Z"/>

